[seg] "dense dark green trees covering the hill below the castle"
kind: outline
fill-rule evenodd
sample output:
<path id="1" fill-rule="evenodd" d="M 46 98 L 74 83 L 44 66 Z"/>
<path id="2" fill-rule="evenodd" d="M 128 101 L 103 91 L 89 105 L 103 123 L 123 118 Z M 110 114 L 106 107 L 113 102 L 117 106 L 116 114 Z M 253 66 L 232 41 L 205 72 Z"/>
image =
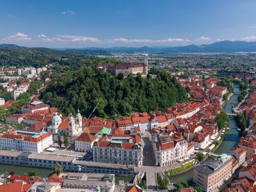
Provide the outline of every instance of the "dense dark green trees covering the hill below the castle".
<path id="1" fill-rule="evenodd" d="M 151 112 L 166 109 L 176 102 L 188 100 L 186 90 L 177 80 L 161 70 L 153 68 L 150 75 L 117 77 L 93 67 L 81 67 L 52 74 L 49 87 L 42 93 L 45 103 L 60 109 L 61 113 L 76 113 L 118 117 L 134 111 Z"/>

